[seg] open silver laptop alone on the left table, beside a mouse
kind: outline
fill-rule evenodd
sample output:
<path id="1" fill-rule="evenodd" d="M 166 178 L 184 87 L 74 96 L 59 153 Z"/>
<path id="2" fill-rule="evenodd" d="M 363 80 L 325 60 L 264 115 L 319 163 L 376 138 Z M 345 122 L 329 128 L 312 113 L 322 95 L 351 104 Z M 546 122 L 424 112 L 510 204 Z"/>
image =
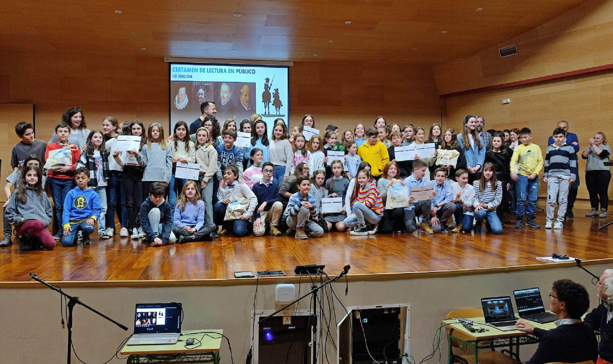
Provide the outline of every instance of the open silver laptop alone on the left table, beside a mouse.
<path id="1" fill-rule="evenodd" d="M 181 303 L 137 303 L 128 345 L 176 344 L 181 335 Z"/>

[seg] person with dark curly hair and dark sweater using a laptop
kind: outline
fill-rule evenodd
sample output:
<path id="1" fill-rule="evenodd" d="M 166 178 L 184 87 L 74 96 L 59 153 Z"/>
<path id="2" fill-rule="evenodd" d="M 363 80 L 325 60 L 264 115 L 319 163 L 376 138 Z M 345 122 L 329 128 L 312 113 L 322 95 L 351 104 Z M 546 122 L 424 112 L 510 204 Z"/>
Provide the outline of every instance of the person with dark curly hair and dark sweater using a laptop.
<path id="1" fill-rule="evenodd" d="M 598 342 L 592 328 L 581 321 L 590 308 L 590 296 L 584 286 L 570 279 L 554 282 L 549 294 L 550 311 L 558 316 L 554 330 L 534 327 L 526 320 L 517 320 L 517 330 L 539 338 L 535 355 L 527 364 L 550 362 L 579 363 L 596 362 Z"/>

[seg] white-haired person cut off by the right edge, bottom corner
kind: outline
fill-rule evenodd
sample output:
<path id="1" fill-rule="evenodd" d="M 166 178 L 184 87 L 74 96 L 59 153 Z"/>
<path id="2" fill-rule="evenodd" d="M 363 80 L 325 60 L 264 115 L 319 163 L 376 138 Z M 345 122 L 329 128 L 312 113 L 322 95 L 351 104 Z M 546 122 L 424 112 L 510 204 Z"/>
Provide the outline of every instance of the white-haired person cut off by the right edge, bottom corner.
<path id="1" fill-rule="evenodd" d="M 585 316 L 585 325 L 600 330 L 598 364 L 613 363 L 613 269 L 607 269 L 597 284 L 598 295 L 604 302 Z"/>

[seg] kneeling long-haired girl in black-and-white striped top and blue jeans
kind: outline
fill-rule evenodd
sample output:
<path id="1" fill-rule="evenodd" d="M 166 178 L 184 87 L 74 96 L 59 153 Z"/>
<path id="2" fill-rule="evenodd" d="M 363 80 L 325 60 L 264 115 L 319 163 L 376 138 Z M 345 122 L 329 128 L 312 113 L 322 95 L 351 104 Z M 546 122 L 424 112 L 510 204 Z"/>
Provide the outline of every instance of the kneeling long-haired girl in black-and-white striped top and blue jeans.
<path id="1" fill-rule="evenodd" d="M 499 235 L 502 233 L 502 224 L 496 208 L 502 202 L 502 183 L 496 179 L 496 167 L 492 163 L 485 163 L 481 172 L 481 178 L 473 182 L 474 232 L 481 233 L 481 223 L 487 219 L 487 230 Z"/>

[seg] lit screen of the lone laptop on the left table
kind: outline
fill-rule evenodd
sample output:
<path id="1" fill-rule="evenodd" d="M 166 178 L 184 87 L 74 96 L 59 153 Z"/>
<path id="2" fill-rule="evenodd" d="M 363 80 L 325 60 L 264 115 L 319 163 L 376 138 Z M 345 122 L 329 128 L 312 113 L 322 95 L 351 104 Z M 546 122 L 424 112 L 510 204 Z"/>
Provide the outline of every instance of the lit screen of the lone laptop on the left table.
<path id="1" fill-rule="evenodd" d="M 134 333 L 181 332 L 180 303 L 138 303 Z"/>

